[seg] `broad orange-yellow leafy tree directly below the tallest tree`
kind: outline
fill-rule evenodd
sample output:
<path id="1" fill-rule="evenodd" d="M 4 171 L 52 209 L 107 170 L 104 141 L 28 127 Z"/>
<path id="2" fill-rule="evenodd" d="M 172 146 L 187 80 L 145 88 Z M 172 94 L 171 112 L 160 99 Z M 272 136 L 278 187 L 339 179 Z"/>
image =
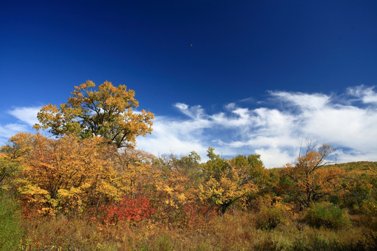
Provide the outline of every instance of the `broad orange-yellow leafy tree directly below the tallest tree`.
<path id="1" fill-rule="evenodd" d="M 3 151 L 23 153 L 18 157 L 23 168 L 16 185 L 29 211 L 82 213 L 84 208 L 123 196 L 114 169 L 117 149 L 101 137 L 47 139 L 39 134 L 19 134 Z"/>

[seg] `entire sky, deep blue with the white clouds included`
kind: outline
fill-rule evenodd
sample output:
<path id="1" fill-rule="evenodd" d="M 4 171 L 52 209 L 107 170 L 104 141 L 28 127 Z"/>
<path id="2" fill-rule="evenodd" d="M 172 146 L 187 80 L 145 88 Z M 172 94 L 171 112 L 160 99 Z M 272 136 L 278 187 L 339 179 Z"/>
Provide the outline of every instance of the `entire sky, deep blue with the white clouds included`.
<path id="1" fill-rule="evenodd" d="M 156 155 L 213 146 L 278 167 L 313 139 L 339 162 L 376 161 L 376 13 L 376 1 L 1 1 L 0 144 L 91 79 L 154 112 L 138 146 Z"/>

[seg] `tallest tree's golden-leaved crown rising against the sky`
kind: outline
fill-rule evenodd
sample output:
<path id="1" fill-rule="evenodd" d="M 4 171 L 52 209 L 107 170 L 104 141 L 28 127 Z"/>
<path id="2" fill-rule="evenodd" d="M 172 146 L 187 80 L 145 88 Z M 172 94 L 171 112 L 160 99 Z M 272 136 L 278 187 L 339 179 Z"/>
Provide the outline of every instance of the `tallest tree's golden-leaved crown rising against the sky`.
<path id="1" fill-rule="evenodd" d="M 125 85 L 113 86 L 104 82 L 98 89 L 88 80 L 75 86 L 68 102 L 45 105 L 38 112 L 40 124 L 35 128 L 50 128 L 53 135 L 79 135 L 82 139 L 101 136 L 117 147 L 135 146 L 135 137 L 151 133 L 154 115 L 142 109 L 135 112 L 139 103 L 135 91 Z"/>

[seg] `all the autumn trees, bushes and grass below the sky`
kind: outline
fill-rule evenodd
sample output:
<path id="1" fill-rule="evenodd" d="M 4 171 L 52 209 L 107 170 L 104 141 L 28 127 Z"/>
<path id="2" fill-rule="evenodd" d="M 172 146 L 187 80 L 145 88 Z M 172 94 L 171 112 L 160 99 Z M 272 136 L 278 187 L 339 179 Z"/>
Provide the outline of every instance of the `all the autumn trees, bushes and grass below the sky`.
<path id="1" fill-rule="evenodd" d="M 376 250 L 377 162 L 135 149 L 153 114 L 110 82 L 43 107 L 0 153 L 0 250 Z"/>

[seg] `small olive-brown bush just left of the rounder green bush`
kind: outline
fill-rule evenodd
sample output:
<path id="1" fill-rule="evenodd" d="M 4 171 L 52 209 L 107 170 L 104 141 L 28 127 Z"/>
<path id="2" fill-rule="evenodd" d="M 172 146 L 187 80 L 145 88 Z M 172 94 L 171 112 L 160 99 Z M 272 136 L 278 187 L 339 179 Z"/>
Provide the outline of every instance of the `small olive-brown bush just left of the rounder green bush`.
<path id="1" fill-rule="evenodd" d="M 264 206 L 256 215 L 256 228 L 258 229 L 274 229 L 284 218 L 284 210 L 279 206 Z"/>

